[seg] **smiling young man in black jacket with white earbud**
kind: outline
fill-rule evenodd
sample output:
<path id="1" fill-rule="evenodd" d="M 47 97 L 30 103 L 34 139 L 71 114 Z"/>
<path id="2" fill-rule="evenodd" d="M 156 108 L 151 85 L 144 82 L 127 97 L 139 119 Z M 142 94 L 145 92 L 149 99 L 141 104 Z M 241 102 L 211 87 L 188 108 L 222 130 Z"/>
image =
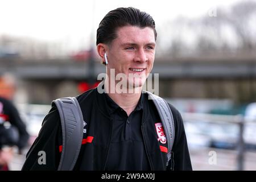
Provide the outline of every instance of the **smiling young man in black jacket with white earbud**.
<path id="1" fill-rule="evenodd" d="M 172 159 L 166 138 L 157 134 L 161 120 L 142 93 L 155 58 L 156 30 L 150 15 L 132 7 L 110 11 L 97 30 L 97 52 L 106 65 L 100 89 L 77 96 L 84 118 L 84 139 L 75 170 L 191 170 L 182 118 L 170 105 L 175 123 Z M 114 72 L 114 81 L 113 73 Z M 119 86 L 116 77 L 124 76 Z M 130 92 L 130 91 L 136 92 Z M 161 128 L 161 127 L 160 127 Z M 61 155 L 61 124 L 56 107 L 43 121 L 23 170 L 56 170 Z M 39 163 L 40 151 L 46 161 Z"/>

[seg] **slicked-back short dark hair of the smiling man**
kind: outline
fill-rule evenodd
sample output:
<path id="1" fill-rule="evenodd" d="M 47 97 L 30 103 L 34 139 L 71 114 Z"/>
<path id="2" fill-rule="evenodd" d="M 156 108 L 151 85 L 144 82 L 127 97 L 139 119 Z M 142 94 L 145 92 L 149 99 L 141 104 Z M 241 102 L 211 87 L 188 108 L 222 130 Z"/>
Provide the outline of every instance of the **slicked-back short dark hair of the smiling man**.
<path id="1" fill-rule="evenodd" d="M 117 28 L 127 25 L 152 28 L 156 40 L 157 33 L 152 16 L 134 7 L 119 7 L 109 11 L 101 20 L 97 29 L 96 45 L 99 43 L 111 43 L 117 37 Z"/>

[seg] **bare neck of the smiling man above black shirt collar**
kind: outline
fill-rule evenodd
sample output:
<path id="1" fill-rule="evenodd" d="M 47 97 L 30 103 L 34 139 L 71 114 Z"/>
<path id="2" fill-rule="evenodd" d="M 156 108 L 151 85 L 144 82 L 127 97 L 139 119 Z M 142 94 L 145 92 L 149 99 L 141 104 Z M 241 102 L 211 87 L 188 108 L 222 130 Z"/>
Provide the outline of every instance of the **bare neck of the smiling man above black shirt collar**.
<path id="1" fill-rule="evenodd" d="M 107 86 L 107 84 L 104 85 L 104 88 L 105 86 Z M 129 116 L 139 102 L 139 98 L 141 97 L 142 87 L 139 88 L 140 92 L 135 92 L 135 93 L 117 93 L 117 92 L 110 93 L 108 92 L 109 90 L 110 88 L 109 89 L 105 88 L 105 92 L 108 94 L 108 96 L 112 98 L 112 100 L 118 106 L 120 106 L 123 110 L 125 110 L 127 115 Z"/>

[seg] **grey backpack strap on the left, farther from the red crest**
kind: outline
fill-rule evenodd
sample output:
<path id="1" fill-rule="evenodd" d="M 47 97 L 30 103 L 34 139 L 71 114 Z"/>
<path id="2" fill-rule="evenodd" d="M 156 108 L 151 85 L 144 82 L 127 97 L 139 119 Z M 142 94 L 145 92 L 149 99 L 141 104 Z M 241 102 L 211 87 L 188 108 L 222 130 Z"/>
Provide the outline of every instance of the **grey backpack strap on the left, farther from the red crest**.
<path id="1" fill-rule="evenodd" d="M 73 170 L 79 156 L 83 137 L 83 117 L 75 97 L 59 98 L 52 101 L 60 114 L 62 131 L 62 152 L 58 171 Z"/>

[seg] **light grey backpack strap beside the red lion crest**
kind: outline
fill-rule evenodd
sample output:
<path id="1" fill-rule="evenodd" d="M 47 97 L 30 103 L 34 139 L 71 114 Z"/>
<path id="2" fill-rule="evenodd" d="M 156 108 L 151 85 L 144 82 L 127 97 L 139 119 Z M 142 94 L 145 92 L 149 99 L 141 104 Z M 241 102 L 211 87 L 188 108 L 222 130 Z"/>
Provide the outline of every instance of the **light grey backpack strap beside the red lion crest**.
<path id="1" fill-rule="evenodd" d="M 168 105 L 168 103 L 161 97 L 152 94 L 151 92 L 143 91 L 148 94 L 148 98 L 150 98 L 158 110 L 160 118 L 163 123 L 164 132 L 166 133 L 167 137 L 167 146 L 168 146 L 168 153 L 167 153 L 167 164 L 171 159 L 171 151 L 172 146 L 174 145 L 174 137 L 175 137 L 175 128 L 174 128 L 174 117 L 172 115 L 172 111 Z"/>

